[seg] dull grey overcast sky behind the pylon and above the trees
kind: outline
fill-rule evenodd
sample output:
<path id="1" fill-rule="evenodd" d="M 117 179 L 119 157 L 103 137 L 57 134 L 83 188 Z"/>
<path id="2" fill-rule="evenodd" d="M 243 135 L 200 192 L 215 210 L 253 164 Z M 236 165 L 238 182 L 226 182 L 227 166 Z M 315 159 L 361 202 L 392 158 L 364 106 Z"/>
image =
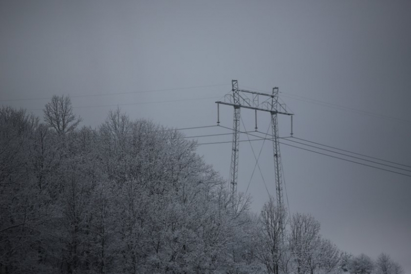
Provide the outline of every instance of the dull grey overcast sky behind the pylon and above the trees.
<path id="1" fill-rule="evenodd" d="M 411 165 L 410 14 L 409 1 L 3 0 L 0 103 L 42 117 L 49 98 L 65 94 L 93 128 L 116 106 L 133 119 L 198 127 L 216 124 L 214 102 L 237 79 L 243 89 L 279 87 L 295 137 Z M 233 109 L 220 111 L 232 128 Z M 253 115 L 241 110 L 248 131 Z M 268 126 L 269 115 L 258 114 L 259 130 Z M 289 136 L 289 117 L 279 117 L 279 127 Z M 253 142 L 256 154 L 261 145 Z M 245 192 L 255 159 L 248 142 L 239 150 Z M 230 143 L 198 152 L 228 179 Z M 386 252 L 411 274 L 411 177 L 285 145 L 281 153 L 291 213 L 311 213 L 342 250 Z M 272 143 L 259 163 L 275 195 Z M 258 169 L 248 193 L 258 212 L 268 199 Z"/>

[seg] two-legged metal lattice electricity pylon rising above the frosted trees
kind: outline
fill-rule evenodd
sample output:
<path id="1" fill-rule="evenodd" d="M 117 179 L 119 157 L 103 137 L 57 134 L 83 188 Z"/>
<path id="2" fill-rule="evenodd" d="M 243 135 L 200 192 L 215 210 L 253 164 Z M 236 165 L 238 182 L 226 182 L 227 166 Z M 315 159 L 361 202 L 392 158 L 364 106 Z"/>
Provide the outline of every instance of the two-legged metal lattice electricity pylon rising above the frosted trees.
<path id="1" fill-rule="evenodd" d="M 240 109 L 252 109 L 257 111 L 265 111 L 271 114 L 271 129 L 273 135 L 273 152 L 274 152 L 274 171 L 275 171 L 275 191 L 276 202 L 278 206 L 283 206 L 283 176 L 281 154 L 279 151 L 278 137 L 278 118 L 277 114 L 294 115 L 286 110 L 285 104 L 278 102 L 278 88 L 273 88 L 272 94 L 241 90 L 238 89 L 238 81 L 232 80 L 232 94 L 224 96 L 223 101 L 217 101 L 217 104 L 227 104 L 234 107 L 233 121 L 233 146 L 231 154 L 231 191 L 232 199 L 235 199 L 237 194 L 237 178 L 238 178 L 238 143 L 240 134 Z M 251 97 L 251 98 L 250 98 Z M 261 97 L 266 99 L 261 99 Z"/>

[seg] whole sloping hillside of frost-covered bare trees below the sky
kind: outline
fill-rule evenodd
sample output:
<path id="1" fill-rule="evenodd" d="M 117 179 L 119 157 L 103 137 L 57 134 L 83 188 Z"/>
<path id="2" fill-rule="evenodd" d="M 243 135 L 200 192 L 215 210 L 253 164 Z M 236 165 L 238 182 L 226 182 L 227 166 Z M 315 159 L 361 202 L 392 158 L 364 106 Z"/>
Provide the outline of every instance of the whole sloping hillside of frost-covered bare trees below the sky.
<path id="1" fill-rule="evenodd" d="M 119 109 L 79 128 L 64 96 L 43 120 L 0 109 L 0 273 L 404 272 L 341 251 L 273 198 L 251 212 L 176 130 Z"/>

